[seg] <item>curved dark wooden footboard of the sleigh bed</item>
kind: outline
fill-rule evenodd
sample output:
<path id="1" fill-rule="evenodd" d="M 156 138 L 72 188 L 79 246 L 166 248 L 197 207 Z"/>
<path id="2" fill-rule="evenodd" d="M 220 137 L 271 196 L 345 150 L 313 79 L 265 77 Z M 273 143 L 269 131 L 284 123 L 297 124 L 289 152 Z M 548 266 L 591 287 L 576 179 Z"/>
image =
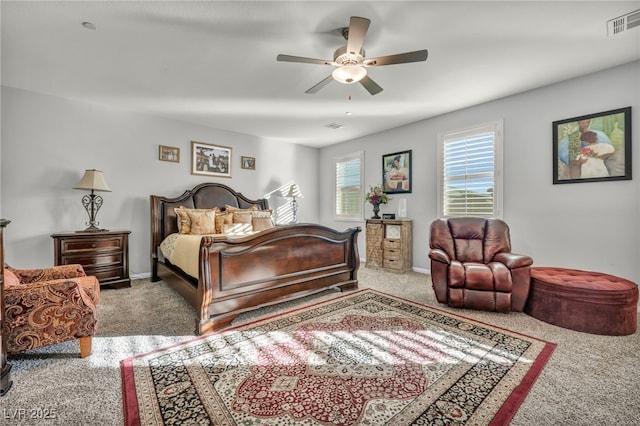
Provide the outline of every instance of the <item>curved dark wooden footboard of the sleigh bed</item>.
<path id="1" fill-rule="evenodd" d="M 360 228 L 339 232 L 298 224 L 242 239 L 204 237 L 196 331 L 223 327 L 240 313 L 260 306 L 328 288 L 357 288 L 359 232 Z"/>

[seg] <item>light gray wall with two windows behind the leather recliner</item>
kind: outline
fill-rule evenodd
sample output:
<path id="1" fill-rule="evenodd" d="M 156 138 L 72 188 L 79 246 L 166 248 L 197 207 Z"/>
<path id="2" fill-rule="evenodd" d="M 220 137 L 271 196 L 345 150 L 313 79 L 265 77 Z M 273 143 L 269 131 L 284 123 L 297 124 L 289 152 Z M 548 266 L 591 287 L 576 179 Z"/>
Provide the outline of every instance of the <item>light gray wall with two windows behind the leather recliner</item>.
<path id="1" fill-rule="evenodd" d="M 632 106 L 633 179 L 553 185 L 552 122 L 627 106 Z M 414 226 L 413 265 L 427 270 L 428 229 L 438 216 L 437 134 L 497 119 L 504 120 L 504 219 L 513 250 L 531 255 L 538 266 L 590 269 L 640 283 L 640 148 L 635 142 L 640 140 L 640 62 L 323 148 L 320 170 L 328 175 L 334 156 L 364 150 L 364 183 L 378 184 L 383 154 L 413 150 L 413 192 L 406 195 Z M 333 221 L 333 182 L 324 179 L 320 185 L 321 222 L 364 229 L 364 222 Z M 396 212 L 398 198 L 381 211 Z M 371 215 L 366 205 L 365 217 Z M 358 242 L 364 257 L 364 233 Z"/>

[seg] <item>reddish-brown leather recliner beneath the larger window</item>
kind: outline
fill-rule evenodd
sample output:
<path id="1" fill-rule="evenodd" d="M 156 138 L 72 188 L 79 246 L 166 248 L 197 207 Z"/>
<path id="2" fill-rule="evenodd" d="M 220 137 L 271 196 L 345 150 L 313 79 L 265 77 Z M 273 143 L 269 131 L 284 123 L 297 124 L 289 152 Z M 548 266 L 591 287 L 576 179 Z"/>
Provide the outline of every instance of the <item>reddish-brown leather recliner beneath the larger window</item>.
<path id="1" fill-rule="evenodd" d="M 454 308 L 522 312 L 533 259 L 511 253 L 500 219 L 459 217 L 431 224 L 431 279 L 436 299 Z"/>

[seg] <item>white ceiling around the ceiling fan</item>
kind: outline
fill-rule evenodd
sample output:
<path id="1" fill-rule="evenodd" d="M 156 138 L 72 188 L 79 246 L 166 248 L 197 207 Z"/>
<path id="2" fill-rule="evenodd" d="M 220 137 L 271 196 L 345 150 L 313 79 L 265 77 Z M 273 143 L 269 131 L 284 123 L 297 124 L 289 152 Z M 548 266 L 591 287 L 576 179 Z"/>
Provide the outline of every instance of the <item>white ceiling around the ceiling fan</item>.
<path id="1" fill-rule="evenodd" d="M 1 77 L 320 147 L 638 60 L 640 27 L 607 37 L 606 26 L 637 9 L 640 1 L 3 0 Z M 371 19 L 367 57 L 426 48 L 429 58 L 369 68 L 384 88 L 376 96 L 338 82 L 305 94 L 333 67 L 276 56 L 333 59 L 350 16 Z"/>

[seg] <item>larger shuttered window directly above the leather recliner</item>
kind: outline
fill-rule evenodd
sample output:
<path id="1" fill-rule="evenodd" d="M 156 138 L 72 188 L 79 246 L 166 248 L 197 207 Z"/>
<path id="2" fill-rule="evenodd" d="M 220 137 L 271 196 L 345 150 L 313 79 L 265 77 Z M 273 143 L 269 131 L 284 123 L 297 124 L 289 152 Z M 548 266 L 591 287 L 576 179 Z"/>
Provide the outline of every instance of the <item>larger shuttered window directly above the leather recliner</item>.
<path id="1" fill-rule="evenodd" d="M 502 216 L 502 121 L 438 134 L 438 214 Z"/>

